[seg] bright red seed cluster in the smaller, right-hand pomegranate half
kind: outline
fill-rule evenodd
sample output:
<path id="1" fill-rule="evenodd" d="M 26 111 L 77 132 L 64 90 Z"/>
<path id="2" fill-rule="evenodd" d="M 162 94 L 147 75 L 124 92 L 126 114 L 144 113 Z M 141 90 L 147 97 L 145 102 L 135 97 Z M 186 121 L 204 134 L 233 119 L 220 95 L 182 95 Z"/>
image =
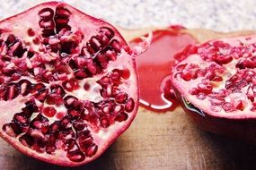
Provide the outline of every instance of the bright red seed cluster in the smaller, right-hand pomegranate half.
<path id="1" fill-rule="evenodd" d="M 187 47 L 179 56 L 189 56 L 190 62 L 178 64 L 174 77 L 193 82 L 189 88 L 190 95 L 199 100 L 207 99 L 213 111 L 243 111 L 251 105 L 249 103 L 252 103 L 250 109 L 255 111 L 255 47 L 255 44 L 244 42 L 231 46 L 220 40 Z M 192 57 L 196 59 L 192 61 Z"/>

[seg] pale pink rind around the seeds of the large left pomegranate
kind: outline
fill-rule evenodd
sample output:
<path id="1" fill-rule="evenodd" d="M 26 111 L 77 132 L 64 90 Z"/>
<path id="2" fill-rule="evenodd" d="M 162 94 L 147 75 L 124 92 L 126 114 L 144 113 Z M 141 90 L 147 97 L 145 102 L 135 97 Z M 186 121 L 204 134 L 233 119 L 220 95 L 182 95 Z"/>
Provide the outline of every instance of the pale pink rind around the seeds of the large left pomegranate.
<path id="1" fill-rule="evenodd" d="M 10 18 L 0 21 L 0 28 L 6 29 L 6 30 L 12 30 L 12 32 L 22 31 L 19 26 L 22 26 L 23 30 L 27 30 L 26 27 L 34 28 L 33 24 L 37 23 L 37 21 L 34 21 L 34 20 L 37 20 L 37 19 L 35 19 L 34 17 L 31 17 L 31 16 L 37 16 L 37 14 L 41 8 L 47 8 L 47 7 L 55 8 L 57 5 L 63 5 L 65 7 L 67 7 L 68 10 L 71 11 L 71 13 L 76 13 L 76 15 L 72 18 L 73 20 L 72 19 L 70 20 L 71 25 L 75 24 L 75 22 L 79 23 L 79 21 L 80 22 L 83 21 L 85 23 L 86 23 L 86 21 L 93 22 L 93 24 L 90 25 L 90 26 L 93 25 L 92 28 L 89 28 L 88 30 L 93 30 L 94 28 L 97 28 L 97 27 L 107 26 L 110 29 L 114 30 L 114 32 L 116 34 L 116 38 L 118 38 L 118 40 L 120 42 L 122 42 L 124 45 L 127 46 L 127 43 L 125 42 L 124 38 L 122 38 L 122 36 L 119 34 L 119 31 L 116 30 L 108 22 L 96 19 L 90 15 L 87 15 L 87 14 L 75 9 L 74 7 L 72 7 L 68 4 L 60 3 L 60 2 L 48 2 L 48 3 L 36 5 L 23 13 L 16 14 Z M 37 27 L 39 27 L 39 26 L 37 26 Z M 86 27 L 86 25 L 85 25 L 85 27 Z M 38 29 L 40 29 L 40 28 L 36 28 L 35 30 L 38 30 Z M 90 32 L 86 32 L 86 33 L 90 34 Z M 18 37 L 21 39 L 25 39 L 25 37 L 22 37 L 22 34 L 20 34 L 20 36 L 18 36 Z M 91 36 L 89 35 L 88 37 L 91 37 Z M 70 161 L 70 159 L 68 159 L 66 157 L 66 153 L 60 152 L 55 155 L 49 155 L 47 153 L 38 153 L 35 150 L 28 149 L 28 148 L 24 147 L 18 141 L 18 139 L 12 138 L 9 135 L 7 135 L 5 132 L 3 132 L 2 128 L 0 130 L 0 136 L 4 140 L 6 140 L 8 143 L 10 143 L 13 146 L 13 148 L 18 149 L 25 155 L 28 155 L 30 157 L 35 157 L 42 161 L 49 162 L 51 164 L 60 165 L 60 166 L 81 166 L 88 162 L 93 161 L 93 159 L 96 159 L 97 157 L 100 157 L 102 155 L 102 153 L 106 149 L 108 149 L 110 147 L 110 145 L 119 137 L 119 135 L 128 129 L 128 127 L 130 126 L 130 124 L 132 123 L 132 121 L 134 120 L 134 118 L 137 114 L 137 107 L 138 107 L 138 105 L 137 105 L 137 103 L 138 103 L 137 87 L 138 87 L 138 84 L 137 84 L 137 70 L 136 70 L 136 64 L 135 64 L 135 56 L 129 55 L 128 52 L 124 52 L 123 58 L 119 59 L 119 60 L 121 60 L 122 63 L 126 64 L 128 70 L 130 71 L 130 80 L 131 81 L 129 84 L 129 89 L 130 89 L 131 93 L 129 95 L 131 98 L 134 98 L 136 105 L 135 105 L 135 108 L 133 109 L 132 113 L 128 114 L 128 120 L 126 120 L 125 122 L 122 122 L 122 123 L 115 123 L 108 128 L 108 135 L 93 136 L 93 137 L 95 137 L 94 138 L 95 142 L 98 144 L 98 151 L 96 152 L 96 154 L 93 157 L 85 157 L 84 161 L 82 161 L 82 162 L 73 162 L 73 161 Z M 118 62 L 120 62 L 120 61 L 118 61 Z M 116 66 L 118 66 L 118 64 L 117 64 L 118 62 L 116 62 L 114 64 L 110 64 L 110 68 L 115 68 Z M 6 106 L 6 104 L 4 102 L 0 101 L 1 110 L 2 111 L 9 110 L 9 112 L 12 112 L 12 109 L 15 108 L 17 103 L 20 103 L 20 101 L 22 101 L 22 99 L 23 98 L 19 98 L 19 97 L 15 98 L 14 100 L 12 100 L 9 103 L 8 106 Z M 10 107 L 10 106 L 12 106 L 12 107 Z M 21 107 L 21 106 L 17 106 L 17 107 Z M 3 126 L 4 123 L 6 123 L 5 122 L 6 117 L 9 117 L 9 119 L 11 119 L 10 116 L 11 115 L 4 115 L 4 114 L 0 115 L 1 127 Z"/>

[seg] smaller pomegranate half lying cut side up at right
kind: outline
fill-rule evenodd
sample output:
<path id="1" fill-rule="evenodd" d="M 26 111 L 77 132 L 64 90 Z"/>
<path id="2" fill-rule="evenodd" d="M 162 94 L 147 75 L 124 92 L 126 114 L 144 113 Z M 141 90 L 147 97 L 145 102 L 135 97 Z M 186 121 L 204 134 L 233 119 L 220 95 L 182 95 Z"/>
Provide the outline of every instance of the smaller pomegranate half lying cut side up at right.
<path id="1" fill-rule="evenodd" d="M 195 46 L 195 54 L 183 54 L 173 68 L 176 96 L 205 130 L 256 142 L 255 45 L 254 35 L 209 41 Z M 183 72 L 192 78 L 175 76 Z"/>

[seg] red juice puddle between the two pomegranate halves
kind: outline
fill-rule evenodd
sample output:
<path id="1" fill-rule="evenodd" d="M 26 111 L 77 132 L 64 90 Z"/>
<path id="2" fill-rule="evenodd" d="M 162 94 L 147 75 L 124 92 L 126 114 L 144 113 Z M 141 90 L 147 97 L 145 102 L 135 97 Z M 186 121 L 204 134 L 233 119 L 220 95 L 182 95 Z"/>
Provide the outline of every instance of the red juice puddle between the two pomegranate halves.
<path id="1" fill-rule="evenodd" d="M 136 46 L 138 39 L 130 42 Z M 155 30 L 153 41 L 145 53 L 137 56 L 137 71 L 139 76 L 140 105 L 163 112 L 173 110 L 177 101 L 173 96 L 170 79 L 174 55 L 184 47 L 197 43 L 188 33 L 177 30 Z"/>

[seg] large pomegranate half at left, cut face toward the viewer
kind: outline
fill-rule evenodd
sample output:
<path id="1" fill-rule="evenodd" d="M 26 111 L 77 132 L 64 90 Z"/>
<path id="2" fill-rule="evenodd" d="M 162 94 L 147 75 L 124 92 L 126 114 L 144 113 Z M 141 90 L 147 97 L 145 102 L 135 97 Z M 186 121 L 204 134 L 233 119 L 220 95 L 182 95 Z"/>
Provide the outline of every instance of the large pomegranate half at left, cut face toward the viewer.
<path id="1" fill-rule="evenodd" d="M 99 157 L 137 113 L 135 56 L 118 30 L 49 2 L 0 21 L 0 135 L 61 166 Z"/>

